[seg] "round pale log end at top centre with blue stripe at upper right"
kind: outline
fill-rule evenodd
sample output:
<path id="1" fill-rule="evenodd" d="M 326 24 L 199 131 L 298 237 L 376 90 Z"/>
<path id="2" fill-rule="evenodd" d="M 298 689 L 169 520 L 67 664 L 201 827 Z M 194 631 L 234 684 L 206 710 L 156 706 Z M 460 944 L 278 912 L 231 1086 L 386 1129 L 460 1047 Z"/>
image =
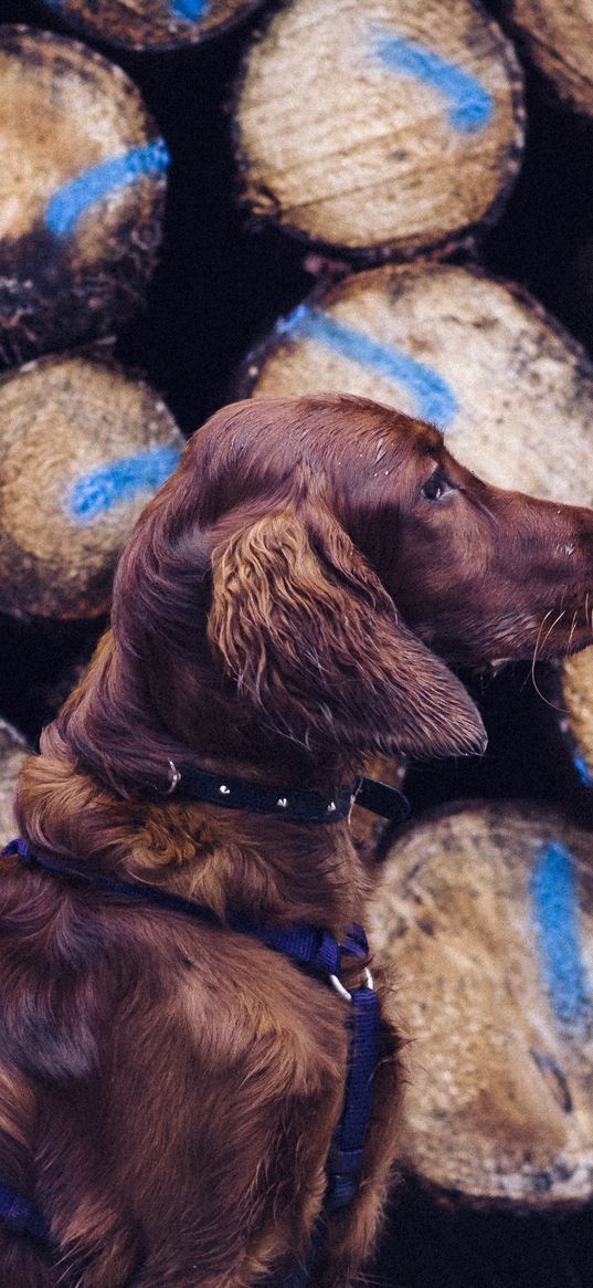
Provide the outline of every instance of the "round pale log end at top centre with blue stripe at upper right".
<path id="1" fill-rule="evenodd" d="M 450 247 L 498 218 L 522 115 L 513 49 L 473 0 L 293 0 L 244 58 L 244 201 L 346 260 Z"/>

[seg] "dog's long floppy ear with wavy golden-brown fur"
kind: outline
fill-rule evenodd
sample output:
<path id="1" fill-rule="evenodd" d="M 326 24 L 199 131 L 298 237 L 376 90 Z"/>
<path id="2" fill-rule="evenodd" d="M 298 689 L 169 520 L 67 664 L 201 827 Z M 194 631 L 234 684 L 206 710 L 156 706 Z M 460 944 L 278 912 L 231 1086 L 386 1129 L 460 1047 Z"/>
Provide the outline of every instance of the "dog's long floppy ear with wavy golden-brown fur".
<path id="1" fill-rule="evenodd" d="M 208 640 L 261 724 L 311 751 L 485 747 L 459 680 L 399 621 L 319 500 L 246 522 L 215 546 Z"/>

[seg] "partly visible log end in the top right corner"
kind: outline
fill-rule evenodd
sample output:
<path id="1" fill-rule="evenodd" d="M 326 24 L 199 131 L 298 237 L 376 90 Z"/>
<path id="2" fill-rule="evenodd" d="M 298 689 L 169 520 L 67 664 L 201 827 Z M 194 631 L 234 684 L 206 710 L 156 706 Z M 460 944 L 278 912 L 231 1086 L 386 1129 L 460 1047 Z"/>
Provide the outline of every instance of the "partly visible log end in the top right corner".
<path id="1" fill-rule="evenodd" d="M 562 102 L 593 116 L 589 0 L 499 0 L 499 8 Z"/>

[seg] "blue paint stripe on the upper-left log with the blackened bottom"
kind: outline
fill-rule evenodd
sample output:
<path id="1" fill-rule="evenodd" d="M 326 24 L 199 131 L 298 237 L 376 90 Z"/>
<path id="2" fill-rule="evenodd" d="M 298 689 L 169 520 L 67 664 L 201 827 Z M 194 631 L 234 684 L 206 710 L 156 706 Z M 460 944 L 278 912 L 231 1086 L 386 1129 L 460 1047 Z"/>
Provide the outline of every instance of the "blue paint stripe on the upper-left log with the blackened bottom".
<path id="1" fill-rule="evenodd" d="M 130 148 L 121 157 L 112 157 L 100 165 L 90 166 L 76 179 L 64 183 L 51 197 L 45 213 L 49 231 L 55 237 L 67 237 L 89 206 L 94 206 L 117 188 L 127 188 L 144 175 L 163 174 L 169 161 L 163 140 L 157 139 L 144 147 Z"/>

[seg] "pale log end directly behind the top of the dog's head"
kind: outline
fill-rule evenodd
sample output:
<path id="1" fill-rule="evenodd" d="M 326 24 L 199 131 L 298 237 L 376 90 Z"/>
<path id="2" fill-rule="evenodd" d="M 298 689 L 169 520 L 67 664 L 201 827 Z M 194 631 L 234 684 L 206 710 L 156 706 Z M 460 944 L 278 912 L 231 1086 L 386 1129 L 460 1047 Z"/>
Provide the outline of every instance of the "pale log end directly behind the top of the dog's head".
<path id="1" fill-rule="evenodd" d="M 479 270 L 352 274 L 280 319 L 239 379 L 251 397 L 322 390 L 433 421 L 499 487 L 593 504 L 593 366 L 534 300 Z"/>

